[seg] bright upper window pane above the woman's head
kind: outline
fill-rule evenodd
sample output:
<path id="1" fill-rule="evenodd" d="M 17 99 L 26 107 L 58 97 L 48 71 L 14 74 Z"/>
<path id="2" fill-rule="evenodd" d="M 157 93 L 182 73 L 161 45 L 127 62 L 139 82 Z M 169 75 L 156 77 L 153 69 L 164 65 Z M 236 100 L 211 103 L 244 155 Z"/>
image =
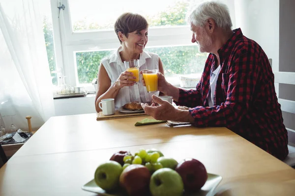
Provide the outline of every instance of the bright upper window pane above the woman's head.
<path id="1" fill-rule="evenodd" d="M 149 0 L 142 6 L 138 0 L 118 2 L 84 0 L 81 4 L 81 0 L 68 0 L 72 31 L 113 30 L 117 18 L 124 12 L 143 15 L 150 27 L 186 25 L 185 14 L 190 0 Z"/>

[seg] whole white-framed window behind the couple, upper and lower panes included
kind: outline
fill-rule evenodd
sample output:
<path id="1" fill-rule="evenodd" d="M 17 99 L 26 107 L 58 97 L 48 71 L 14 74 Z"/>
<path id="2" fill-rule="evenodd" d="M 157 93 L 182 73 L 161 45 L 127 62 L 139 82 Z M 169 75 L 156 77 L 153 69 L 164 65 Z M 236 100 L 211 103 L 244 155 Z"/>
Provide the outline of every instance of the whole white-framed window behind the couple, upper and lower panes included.
<path id="1" fill-rule="evenodd" d="M 146 50 L 159 54 L 169 81 L 179 84 L 180 75 L 202 73 L 207 54 L 191 43 L 192 33 L 185 20 L 193 4 L 200 1 L 204 0 L 61 0 L 65 9 L 53 20 L 53 26 L 54 32 L 59 29 L 62 61 L 58 67 L 66 83 L 94 91 L 91 81 L 97 77 L 100 60 L 120 46 L 113 26 L 124 12 L 139 13 L 148 20 Z M 51 2 L 54 16 L 59 0 Z"/>

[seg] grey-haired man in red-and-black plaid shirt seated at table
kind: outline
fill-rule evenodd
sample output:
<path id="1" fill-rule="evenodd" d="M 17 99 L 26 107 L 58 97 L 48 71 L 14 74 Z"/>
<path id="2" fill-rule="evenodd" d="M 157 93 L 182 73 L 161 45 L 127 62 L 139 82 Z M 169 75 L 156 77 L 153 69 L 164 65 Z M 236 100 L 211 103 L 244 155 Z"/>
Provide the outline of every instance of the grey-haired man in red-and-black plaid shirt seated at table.
<path id="1" fill-rule="evenodd" d="M 225 4 L 201 4 L 190 14 L 189 24 L 192 42 L 201 52 L 209 52 L 196 89 L 177 88 L 158 73 L 158 90 L 189 109 L 177 109 L 153 96 L 160 105 L 142 103 L 145 112 L 157 120 L 225 126 L 278 159 L 285 159 L 288 135 L 264 50 L 243 36 L 241 29 L 231 30 Z"/>

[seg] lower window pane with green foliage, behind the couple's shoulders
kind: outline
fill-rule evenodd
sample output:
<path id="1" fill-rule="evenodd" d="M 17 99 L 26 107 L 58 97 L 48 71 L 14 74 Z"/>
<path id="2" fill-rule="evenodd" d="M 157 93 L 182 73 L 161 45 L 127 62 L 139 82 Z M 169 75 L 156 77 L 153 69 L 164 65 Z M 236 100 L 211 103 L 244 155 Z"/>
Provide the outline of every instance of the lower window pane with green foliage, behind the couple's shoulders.
<path id="1" fill-rule="evenodd" d="M 146 50 L 157 53 L 161 57 L 166 77 L 202 73 L 207 59 L 207 53 L 200 53 L 197 46 L 158 47 Z M 79 84 L 91 83 L 96 78 L 100 60 L 114 51 L 76 52 Z"/>

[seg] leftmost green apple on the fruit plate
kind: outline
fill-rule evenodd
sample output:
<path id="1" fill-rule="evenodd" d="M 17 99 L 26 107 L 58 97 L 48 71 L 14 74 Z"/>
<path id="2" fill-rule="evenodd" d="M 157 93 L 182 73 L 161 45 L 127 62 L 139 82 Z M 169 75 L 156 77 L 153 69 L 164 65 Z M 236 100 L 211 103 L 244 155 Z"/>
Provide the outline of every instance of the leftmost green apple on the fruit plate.
<path id="1" fill-rule="evenodd" d="M 122 171 L 122 166 L 118 162 L 107 161 L 97 167 L 94 173 L 94 181 L 106 191 L 115 190 L 119 186 L 119 177 Z"/>

